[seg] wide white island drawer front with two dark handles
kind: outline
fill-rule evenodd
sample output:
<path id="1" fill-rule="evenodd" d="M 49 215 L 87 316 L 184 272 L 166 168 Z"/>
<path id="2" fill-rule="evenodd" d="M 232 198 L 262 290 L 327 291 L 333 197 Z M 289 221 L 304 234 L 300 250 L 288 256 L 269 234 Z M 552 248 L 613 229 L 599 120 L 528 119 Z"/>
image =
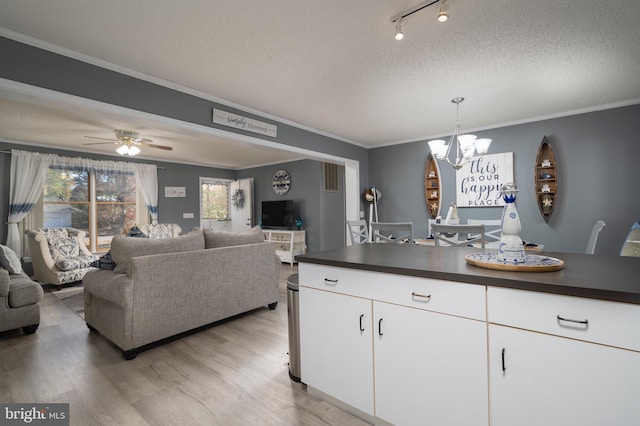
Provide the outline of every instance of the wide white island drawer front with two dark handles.
<path id="1" fill-rule="evenodd" d="M 486 320 L 482 285 L 306 263 L 299 272 L 301 286 Z"/>

